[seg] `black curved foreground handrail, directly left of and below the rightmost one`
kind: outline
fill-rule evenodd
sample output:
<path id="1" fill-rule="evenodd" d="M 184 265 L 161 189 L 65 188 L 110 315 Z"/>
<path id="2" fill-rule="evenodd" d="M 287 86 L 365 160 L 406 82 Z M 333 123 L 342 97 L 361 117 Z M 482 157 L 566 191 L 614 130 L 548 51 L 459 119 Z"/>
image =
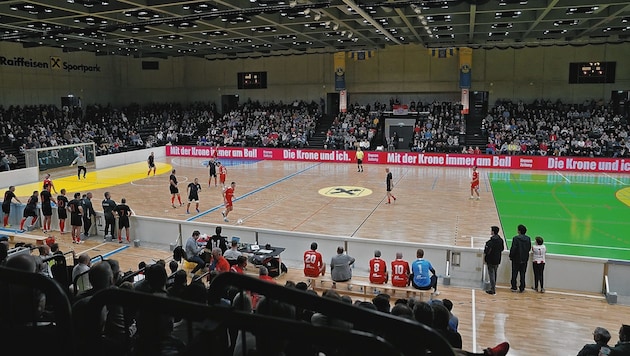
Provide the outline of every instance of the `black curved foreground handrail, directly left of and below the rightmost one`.
<path id="1" fill-rule="evenodd" d="M 112 301 L 116 301 L 125 309 L 130 308 L 151 314 L 178 315 L 192 321 L 218 321 L 222 328 L 250 331 L 261 337 L 273 339 L 275 342 L 291 340 L 303 343 L 303 345 L 313 345 L 313 347 L 334 345 L 337 349 L 347 351 L 344 354 L 352 351 L 352 354 L 401 355 L 400 351 L 384 338 L 364 331 L 317 327 L 296 320 L 245 313 L 232 308 L 202 305 L 118 288 L 99 291 L 87 303 L 86 317 L 91 322 L 86 323 L 86 330 L 82 330 L 85 335 L 81 335 L 85 337 L 87 344 L 95 345 L 98 342 L 101 329 L 96 321 L 101 318 L 103 306 L 112 304 Z M 358 308 L 355 307 L 355 309 Z M 317 335 L 317 338 L 313 338 L 313 335 Z M 156 337 L 160 336 L 156 335 Z M 415 339 L 414 342 L 416 342 Z M 224 346 L 227 347 L 227 345 Z M 213 350 L 221 354 L 221 345 L 213 344 Z"/>

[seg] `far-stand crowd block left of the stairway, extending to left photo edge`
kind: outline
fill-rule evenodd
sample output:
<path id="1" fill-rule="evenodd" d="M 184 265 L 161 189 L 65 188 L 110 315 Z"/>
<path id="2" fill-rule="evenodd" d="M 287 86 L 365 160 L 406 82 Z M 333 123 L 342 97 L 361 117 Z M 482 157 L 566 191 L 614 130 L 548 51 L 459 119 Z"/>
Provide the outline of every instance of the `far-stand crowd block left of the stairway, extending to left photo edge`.
<path id="1" fill-rule="evenodd" d="M 0 143 L 27 149 L 94 142 L 97 154 L 167 144 L 308 146 L 318 104 L 248 101 L 220 115 L 214 104 L 155 103 L 125 107 L 90 105 L 0 106 Z"/>

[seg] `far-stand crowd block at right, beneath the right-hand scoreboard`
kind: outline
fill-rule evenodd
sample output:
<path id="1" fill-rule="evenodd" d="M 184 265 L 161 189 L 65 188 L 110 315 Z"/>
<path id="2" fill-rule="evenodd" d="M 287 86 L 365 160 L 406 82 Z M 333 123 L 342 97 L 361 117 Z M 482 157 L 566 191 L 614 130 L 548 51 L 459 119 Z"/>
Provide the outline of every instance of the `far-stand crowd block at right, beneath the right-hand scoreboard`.
<path id="1" fill-rule="evenodd" d="M 482 122 L 487 154 L 628 157 L 628 117 L 611 104 L 498 101 Z"/>

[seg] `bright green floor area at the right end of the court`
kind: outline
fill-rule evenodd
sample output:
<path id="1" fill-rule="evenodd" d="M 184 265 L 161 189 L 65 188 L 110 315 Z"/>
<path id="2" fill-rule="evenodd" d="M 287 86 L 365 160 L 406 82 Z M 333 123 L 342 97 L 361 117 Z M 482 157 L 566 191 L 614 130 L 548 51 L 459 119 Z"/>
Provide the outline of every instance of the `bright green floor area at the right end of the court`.
<path id="1" fill-rule="evenodd" d="M 503 234 L 519 224 L 547 252 L 630 261 L 630 176 L 488 173 Z"/>

